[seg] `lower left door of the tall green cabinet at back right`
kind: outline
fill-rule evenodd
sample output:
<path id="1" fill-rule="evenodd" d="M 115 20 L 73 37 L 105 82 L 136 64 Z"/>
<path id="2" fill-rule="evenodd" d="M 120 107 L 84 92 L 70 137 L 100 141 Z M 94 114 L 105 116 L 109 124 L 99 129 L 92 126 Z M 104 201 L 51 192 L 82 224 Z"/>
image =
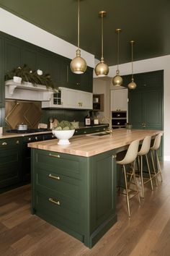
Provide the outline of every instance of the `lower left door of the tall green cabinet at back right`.
<path id="1" fill-rule="evenodd" d="M 129 93 L 129 122 L 135 129 L 141 129 L 143 123 L 143 96 L 142 92 Z"/>

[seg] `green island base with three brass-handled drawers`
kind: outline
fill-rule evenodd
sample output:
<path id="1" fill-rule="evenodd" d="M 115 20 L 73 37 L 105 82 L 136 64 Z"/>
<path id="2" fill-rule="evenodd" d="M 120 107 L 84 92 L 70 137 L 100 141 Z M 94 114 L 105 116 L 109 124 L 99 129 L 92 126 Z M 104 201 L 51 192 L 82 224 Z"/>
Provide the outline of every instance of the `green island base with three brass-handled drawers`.
<path id="1" fill-rule="evenodd" d="M 115 152 L 89 158 L 32 148 L 32 214 L 93 245 L 117 221 Z"/>

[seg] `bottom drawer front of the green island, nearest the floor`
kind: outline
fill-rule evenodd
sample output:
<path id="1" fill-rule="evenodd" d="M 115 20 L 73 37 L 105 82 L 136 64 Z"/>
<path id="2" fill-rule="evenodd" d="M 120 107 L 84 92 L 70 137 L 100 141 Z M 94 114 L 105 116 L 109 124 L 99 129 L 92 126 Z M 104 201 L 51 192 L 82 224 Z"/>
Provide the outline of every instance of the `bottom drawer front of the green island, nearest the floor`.
<path id="1" fill-rule="evenodd" d="M 53 221 L 60 228 L 66 227 L 81 233 L 81 215 L 79 213 L 80 202 L 71 200 L 70 197 L 51 192 L 46 189 L 44 192 L 36 192 L 35 213 Z"/>

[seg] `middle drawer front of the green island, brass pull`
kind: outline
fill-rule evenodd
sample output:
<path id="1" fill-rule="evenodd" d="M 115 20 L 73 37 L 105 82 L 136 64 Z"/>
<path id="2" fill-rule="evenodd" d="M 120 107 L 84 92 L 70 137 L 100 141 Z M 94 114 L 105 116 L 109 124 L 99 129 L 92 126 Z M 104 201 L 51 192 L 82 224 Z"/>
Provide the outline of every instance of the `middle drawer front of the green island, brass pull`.
<path id="1" fill-rule="evenodd" d="M 36 189 L 50 189 L 53 192 L 61 193 L 63 196 L 73 200 L 79 200 L 79 179 L 73 179 L 53 171 L 38 169 L 36 171 Z"/>

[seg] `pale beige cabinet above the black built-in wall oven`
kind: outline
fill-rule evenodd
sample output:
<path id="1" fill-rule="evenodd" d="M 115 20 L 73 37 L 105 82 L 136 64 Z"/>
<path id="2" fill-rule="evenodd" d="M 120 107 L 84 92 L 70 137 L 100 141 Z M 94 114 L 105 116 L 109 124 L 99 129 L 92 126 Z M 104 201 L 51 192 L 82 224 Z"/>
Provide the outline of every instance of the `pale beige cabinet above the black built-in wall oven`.
<path id="1" fill-rule="evenodd" d="M 111 91 L 111 111 L 128 111 L 128 89 Z"/>

